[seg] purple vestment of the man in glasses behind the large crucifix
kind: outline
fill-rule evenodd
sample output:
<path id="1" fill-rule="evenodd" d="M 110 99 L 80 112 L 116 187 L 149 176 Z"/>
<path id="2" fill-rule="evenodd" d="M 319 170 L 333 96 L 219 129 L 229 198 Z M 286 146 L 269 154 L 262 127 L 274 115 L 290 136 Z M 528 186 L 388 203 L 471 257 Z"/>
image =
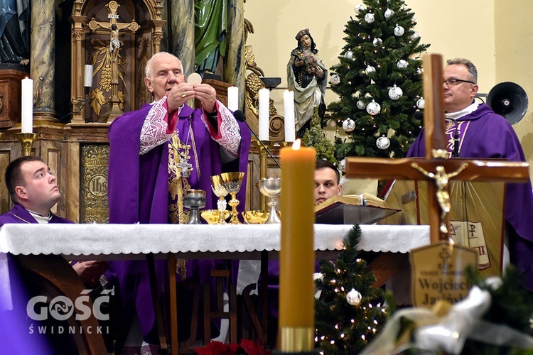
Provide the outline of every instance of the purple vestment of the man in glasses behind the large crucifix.
<path id="1" fill-rule="evenodd" d="M 457 119 L 460 130 L 458 158 L 502 158 L 525 162 L 522 146 L 511 124 L 495 114 L 487 104 Z M 453 131 L 453 127 L 450 129 Z M 426 156 L 425 129 L 416 138 L 408 157 Z M 453 133 L 452 133 L 453 137 Z M 449 136 L 448 136 L 449 138 Z M 453 152 L 453 144 L 448 144 Z M 533 224 L 529 222 L 533 212 L 531 182 L 506 184 L 505 220 L 516 231 L 510 236 L 511 263 L 515 264 L 524 277 L 525 287 L 533 291 Z"/>

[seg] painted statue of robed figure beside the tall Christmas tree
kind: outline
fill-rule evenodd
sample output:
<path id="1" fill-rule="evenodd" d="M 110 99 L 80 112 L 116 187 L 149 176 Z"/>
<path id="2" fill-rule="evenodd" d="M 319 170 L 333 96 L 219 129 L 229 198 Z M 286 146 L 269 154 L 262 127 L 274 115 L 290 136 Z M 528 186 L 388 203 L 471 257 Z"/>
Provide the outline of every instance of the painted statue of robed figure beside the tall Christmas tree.
<path id="1" fill-rule="evenodd" d="M 296 137 L 303 136 L 309 128 L 313 108 L 318 106 L 318 115 L 325 114 L 325 87 L 328 84 L 328 70 L 316 53 L 316 43 L 306 28 L 296 34 L 298 47 L 291 52 L 287 64 L 287 83 L 294 91 L 294 117 Z"/>

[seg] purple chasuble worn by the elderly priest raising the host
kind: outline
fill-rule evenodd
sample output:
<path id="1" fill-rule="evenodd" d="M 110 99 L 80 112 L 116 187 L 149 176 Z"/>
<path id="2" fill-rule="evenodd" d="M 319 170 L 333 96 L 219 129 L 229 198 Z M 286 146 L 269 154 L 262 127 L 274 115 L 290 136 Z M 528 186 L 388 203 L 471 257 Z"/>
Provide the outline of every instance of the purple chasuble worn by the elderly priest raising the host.
<path id="1" fill-rule="evenodd" d="M 167 224 L 168 221 L 168 143 L 156 146 L 144 155 L 139 155 L 141 129 L 151 106 L 144 104 L 141 109 L 119 116 L 109 127 L 109 223 L 119 224 Z M 241 144 L 239 158 L 222 165 L 220 145 L 212 140 L 208 129 L 200 119 L 202 109 L 184 106 L 179 114 L 176 128 L 182 143 L 191 146 L 189 163 L 193 165 L 188 182 L 191 189 L 205 190 L 207 203 L 205 209 L 216 209 L 217 200 L 211 190 L 211 175 L 223 172 L 247 172 L 250 146 L 249 129 L 242 123 L 240 127 Z M 190 128 L 193 129 L 192 132 Z M 192 136 L 200 163 L 200 177 L 196 166 Z M 242 186 L 246 186 L 247 176 Z M 237 199 L 244 202 L 246 189 L 242 188 Z M 240 203 L 239 214 L 244 211 Z M 214 261 L 187 261 L 187 276 L 200 284 L 205 283 Z M 151 307 L 151 292 L 148 270 L 145 261 L 115 261 L 110 268 L 117 275 L 119 297 L 122 297 L 124 310 L 124 334 L 129 331 L 129 324 L 134 312 L 139 317 L 141 332 L 146 342 L 156 344 L 154 339 L 155 316 Z M 166 261 L 156 261 L 157 285 L 166 284 L 168 278 Z M 126 329 L 127 328 L 127 329 Z M 149 335 L 150 334 L 150 335 Z M 124 339 L 122 339 L 123 341 Z M 119 339 L 119 342 L 121 339 Z"/>

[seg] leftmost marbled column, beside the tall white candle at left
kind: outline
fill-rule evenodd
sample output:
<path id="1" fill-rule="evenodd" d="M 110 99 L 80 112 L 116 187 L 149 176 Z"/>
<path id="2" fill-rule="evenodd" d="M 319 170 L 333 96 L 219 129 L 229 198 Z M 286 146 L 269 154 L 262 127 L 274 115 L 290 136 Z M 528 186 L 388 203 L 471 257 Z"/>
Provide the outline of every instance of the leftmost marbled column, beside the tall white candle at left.
<path id="1" fill-rule="evenodd" d="M 31 78 L 33 116 L 55 121 L 55 8 L 53 0 L 31 4 Z"/>

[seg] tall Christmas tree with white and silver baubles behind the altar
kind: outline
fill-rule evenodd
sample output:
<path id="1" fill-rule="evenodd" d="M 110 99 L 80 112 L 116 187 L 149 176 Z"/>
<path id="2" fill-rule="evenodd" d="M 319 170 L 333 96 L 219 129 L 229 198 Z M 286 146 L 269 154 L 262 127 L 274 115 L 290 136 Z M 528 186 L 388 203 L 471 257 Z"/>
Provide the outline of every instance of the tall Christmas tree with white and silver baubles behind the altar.
<path id="1" fill-rule="evenodd" d="M 347 134 L 335 142 L 336 158 L 402 158 L 422 125 L 420 54 L 429 45 L 420 43 L 414 13 L 402 0 L 363 0 L 350 18 L 340 62 L 331 67 L 340 99 L 325 118 Z"/>

